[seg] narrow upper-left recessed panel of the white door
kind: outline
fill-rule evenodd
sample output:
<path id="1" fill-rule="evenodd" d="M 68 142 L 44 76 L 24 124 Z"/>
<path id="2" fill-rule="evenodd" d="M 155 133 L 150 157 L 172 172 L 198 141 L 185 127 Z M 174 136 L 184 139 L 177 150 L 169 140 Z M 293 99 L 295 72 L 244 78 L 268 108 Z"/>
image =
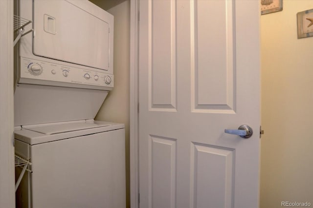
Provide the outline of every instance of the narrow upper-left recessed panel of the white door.
<path id="1" fill-rule="evenodd" d="M 149 99 L 155 110 L 176 110 L 175 5 L 158 0 L 149 6 Z"/>

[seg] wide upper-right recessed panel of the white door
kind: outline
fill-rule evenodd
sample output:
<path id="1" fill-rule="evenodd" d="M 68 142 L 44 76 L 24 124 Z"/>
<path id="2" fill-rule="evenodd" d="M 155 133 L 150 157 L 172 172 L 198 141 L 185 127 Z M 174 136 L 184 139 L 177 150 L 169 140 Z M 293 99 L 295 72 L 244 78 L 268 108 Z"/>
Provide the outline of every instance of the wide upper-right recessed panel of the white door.
<path id="1" fill-rule="evenodd" d="M 233 10 L 230 0 L 191 2 L 194 109 L 234 108 Z"/>

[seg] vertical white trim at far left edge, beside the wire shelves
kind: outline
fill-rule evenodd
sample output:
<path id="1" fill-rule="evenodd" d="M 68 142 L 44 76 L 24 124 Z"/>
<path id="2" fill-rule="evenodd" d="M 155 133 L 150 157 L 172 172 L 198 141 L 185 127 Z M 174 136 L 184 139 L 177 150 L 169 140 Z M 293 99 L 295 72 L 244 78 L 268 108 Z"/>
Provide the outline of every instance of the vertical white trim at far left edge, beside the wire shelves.
<path id="1" fill-rule="evenodd" d="M 0 207 L 15 208 L 13 0 L 0 0 Z"/>

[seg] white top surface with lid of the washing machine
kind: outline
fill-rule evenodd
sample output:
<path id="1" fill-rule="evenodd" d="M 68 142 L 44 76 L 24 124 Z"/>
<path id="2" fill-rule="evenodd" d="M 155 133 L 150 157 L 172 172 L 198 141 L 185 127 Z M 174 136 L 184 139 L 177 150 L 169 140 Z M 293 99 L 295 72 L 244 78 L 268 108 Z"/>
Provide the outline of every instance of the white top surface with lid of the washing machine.
<path id="1" fill-rule="evenodd" d="M 15 139 L 29 145 L 37 145 L 62 139 L 125 128 L 124 124 L 82 120 L 55 124 L 28 125 L 15 129 Z"/>

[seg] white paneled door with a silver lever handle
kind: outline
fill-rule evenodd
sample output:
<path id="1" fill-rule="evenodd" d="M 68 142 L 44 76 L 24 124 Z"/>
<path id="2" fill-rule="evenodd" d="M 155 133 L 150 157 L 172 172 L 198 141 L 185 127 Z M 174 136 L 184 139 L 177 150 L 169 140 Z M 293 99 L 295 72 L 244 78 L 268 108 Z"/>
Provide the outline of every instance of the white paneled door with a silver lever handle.
<path id="1" fill-rule="evenodd" d="M 258 208 L 258 3 L 140 1 L 140 208 Z"/>

